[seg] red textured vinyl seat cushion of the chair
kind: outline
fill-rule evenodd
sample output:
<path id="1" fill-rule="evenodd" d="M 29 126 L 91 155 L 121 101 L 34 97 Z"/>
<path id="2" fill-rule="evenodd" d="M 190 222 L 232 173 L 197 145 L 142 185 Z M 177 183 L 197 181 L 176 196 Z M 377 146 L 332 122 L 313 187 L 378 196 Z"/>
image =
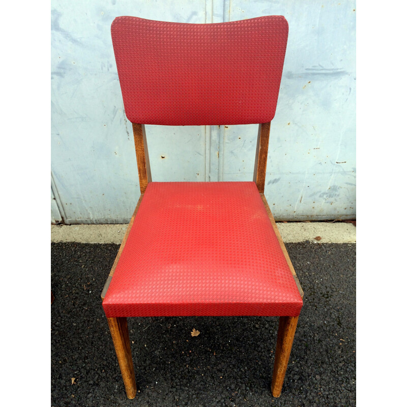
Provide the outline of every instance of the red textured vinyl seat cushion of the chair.
<path id="1" fill-rule="evenodd" d="M 296 316 L 302 298 L 254 182 L 152 182 L 107 317 Z"/>

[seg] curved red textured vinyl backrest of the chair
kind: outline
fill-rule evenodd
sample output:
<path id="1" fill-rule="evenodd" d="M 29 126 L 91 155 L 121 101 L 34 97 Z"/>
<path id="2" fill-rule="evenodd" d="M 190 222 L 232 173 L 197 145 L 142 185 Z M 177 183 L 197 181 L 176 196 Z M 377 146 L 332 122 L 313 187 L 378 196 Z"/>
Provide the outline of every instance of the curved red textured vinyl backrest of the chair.
<path id="1" fill-rule="evenodd" d="M 117 17 L 111 25 L 127 118 L 160 125 L 270 122 L 288 24 L 265 16 L 214 24 Z"/>

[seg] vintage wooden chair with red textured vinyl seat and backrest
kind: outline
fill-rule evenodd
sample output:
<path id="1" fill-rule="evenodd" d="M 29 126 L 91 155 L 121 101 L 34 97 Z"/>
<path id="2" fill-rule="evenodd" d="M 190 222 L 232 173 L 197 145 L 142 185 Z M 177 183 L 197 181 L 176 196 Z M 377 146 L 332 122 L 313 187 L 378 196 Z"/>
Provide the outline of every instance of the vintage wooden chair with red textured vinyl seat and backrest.
<path id="1" fill-rule="evenodd" d="M 264 195 L 288 24 L 117 17 L 111 26 L 141 195 L 102 292 L 128 398 L 136 395 L 127 317 L 279 316 L 279 397 L 303 291 Z M 259 123 L 253 182 L 152 182 L 145 124 Z"/>

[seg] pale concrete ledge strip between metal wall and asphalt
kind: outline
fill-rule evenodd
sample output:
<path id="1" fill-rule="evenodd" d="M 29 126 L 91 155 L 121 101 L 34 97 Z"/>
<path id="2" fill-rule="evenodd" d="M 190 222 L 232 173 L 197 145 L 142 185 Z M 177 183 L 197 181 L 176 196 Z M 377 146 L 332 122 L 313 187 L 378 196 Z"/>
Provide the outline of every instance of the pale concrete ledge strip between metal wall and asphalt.
<path id="1" fill-rule="evenodd" d="M 356 243 L 352 223 L 277 222 L 277 226 L 286 243 Z M 51 225 L 51 242 L 120 244 L 126 229 L 127 225 Z"/>

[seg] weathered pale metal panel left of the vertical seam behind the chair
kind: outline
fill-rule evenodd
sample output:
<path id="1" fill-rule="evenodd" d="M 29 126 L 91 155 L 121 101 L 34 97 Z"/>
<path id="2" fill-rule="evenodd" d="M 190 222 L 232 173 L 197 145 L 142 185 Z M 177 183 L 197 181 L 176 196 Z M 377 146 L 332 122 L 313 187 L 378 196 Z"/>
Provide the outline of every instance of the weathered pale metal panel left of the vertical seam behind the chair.
<path id="1" fill-rule="evenodd" d="M 126 223 L 140 194 L 110 39 L 110 24 L 118 15 L 205 23 L 207 5 L 52 2 L 51 161 L 67 223 Z M 205 127 L 148 130 L 156 180 L 205 180 Z"/>

